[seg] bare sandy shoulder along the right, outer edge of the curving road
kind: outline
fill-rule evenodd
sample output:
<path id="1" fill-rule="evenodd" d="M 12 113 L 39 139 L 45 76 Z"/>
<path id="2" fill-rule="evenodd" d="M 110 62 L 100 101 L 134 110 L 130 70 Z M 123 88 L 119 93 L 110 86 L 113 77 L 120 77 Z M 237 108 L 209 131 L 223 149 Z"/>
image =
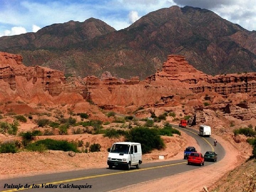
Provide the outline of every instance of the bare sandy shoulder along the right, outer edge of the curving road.
<path id="1" fill-rule="evenodd" d="M 161 192 L 198 192 L 203 187 L 213 185 L 226 172 L 233 170 L 243 161 L 240 158 L 240 151 L 237 150 L 228 140 L 217 135 L 213 135 L 226 151 L 225 157 L 216 164 L 202 167 L 197 170 L 187 171 L 170 177 L 164 177 L 158 180 L 146 181 L 129 187 L 124 187 L 112 192 L 141 192 L 141 191 L 161 191 Z M 210 173 L 210 174 L 209 174 Z M 203 179 L 202 179 L 203 178 Z M 196 181 L 196 182 L 195 182 Z"/>

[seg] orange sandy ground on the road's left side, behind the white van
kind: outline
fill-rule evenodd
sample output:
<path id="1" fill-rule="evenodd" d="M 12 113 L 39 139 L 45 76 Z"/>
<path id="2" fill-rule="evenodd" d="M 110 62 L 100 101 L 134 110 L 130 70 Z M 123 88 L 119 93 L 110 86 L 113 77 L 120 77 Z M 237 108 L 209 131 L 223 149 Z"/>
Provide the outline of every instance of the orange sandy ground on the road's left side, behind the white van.
<path id="1" fill-rule="evenodd" d="M 198 150 L 200 149 L 194 138 L 185 132 L 181 133 L 181 136 L 176 134 L 173 137 L 162 136 L 166 148 L 160 151 L 154 150 L 150 154 L 144 154 L 143 163 L 182 159 L 186 146 L 195 146 Z M 60 139 L 60 137 L 69 141 L 82 140 L 84 143 L 100 143 L 102 148 L 100 152 L 76 153 L 74 157 L 69 156 L 68 152 L 52 150 L 44 153 L 22 151 L 16 154 L 0 154 L 0 179 L 107 167 L 107 148 L 114 142 L 122 141 L 122 138 L 109 139 L 101 134 L 37 136 L 36 139 Z M 165 159 L 159 160 L 159 155 L 164 155 Z"/>

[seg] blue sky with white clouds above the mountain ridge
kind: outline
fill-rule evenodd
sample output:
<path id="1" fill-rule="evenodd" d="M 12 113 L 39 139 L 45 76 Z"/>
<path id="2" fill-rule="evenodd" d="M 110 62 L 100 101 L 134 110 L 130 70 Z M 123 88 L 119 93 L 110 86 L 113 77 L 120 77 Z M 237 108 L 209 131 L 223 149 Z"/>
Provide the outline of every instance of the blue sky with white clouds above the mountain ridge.
<path id="1" fill-rule="evenodd" d="M 206 8 L 256 30 L 256 0 L 0 0 L 0 5 L 0 37 L 90 17 L 120 30 L 151 11 L 172 5 Z"/>

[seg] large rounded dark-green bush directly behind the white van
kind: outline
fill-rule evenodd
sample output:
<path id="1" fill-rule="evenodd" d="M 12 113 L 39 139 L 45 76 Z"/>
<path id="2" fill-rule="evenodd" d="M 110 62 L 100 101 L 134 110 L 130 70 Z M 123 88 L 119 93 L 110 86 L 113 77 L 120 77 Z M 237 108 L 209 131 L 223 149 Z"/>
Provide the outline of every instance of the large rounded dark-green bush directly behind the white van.
<path id="1" fill-rule="evenodd" d="M 126 135 L 126 141 L 137 142 L 142 145 L 142 153 L 149 153 L 153 149 L 162 149 L 165 147 L 159 132 L 155 128 L 135 127 L 130 129 Z"/>

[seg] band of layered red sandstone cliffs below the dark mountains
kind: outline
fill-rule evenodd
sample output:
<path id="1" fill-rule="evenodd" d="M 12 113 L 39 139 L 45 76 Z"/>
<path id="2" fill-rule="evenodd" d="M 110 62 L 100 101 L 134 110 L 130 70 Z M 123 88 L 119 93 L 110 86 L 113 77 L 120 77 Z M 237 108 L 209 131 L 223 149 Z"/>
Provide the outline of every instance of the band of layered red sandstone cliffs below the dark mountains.
<path id="1" fill-rule="evenodd" d="M 169 55 L 161 71 L 140 81 L 138 77 L 66 79 L 61 71 L 26 67 L 20 55 L 0 52 L 0 85 L 0 101 L 61 104 L 90 100 L 101 108 L 122 111 L 128 111 L 128 106 L 183 105 L 189 111 L 208 108 L 240 119 L 256 116 L 256 73 L 206 75 L 179 55 Z"/>

